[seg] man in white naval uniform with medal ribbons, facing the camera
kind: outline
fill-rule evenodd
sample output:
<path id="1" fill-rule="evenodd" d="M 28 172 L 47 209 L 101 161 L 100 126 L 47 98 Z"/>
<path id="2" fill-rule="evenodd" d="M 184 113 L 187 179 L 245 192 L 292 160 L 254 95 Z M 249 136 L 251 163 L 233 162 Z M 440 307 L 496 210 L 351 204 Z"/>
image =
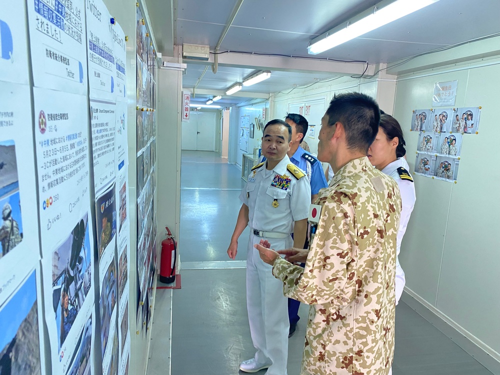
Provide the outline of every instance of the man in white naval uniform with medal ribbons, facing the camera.
<path id="1" fill-rule="evenodd" d="M 282 282 L 253 245 L 267 239 L 273 248 L 302 248 L 311 199 L 304 172 L 290 162 L 291 127 L 280 119 L 265 125 L 262 153 L 266 160 L 252 168 L 227 254 L 234 259 L 238 237 L 250 226 L 246 259 L 246 306 L 255 356 L 241 362 L 244 372 L 267 368 L 267 375 L 286 375 L 288 310 Z M 293 239 L 291 234 L 293 233 Z"/>

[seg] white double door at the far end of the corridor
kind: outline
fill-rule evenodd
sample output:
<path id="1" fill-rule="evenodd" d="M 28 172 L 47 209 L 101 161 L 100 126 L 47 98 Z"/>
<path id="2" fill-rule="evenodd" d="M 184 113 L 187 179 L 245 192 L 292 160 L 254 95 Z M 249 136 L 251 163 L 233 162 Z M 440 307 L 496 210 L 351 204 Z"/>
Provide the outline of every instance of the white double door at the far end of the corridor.
<path id="1" fill-rule="evenodd" d="M 191 112 L 189 122 L 182 122 L 182 149 L 215 151 L 217 113 Z"/>

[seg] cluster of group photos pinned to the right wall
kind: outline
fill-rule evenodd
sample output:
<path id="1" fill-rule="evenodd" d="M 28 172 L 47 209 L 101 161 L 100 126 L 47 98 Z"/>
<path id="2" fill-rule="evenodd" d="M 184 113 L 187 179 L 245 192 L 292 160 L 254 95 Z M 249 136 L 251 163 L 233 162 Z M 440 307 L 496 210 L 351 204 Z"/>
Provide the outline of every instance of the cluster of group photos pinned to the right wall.
<path id="1" fill-rule="evenodd" d="M 411 131 L 419 131 L 415 173 L 456 183 L 462 141 L 478 134 L 481 107 L 415 109 Z"/>

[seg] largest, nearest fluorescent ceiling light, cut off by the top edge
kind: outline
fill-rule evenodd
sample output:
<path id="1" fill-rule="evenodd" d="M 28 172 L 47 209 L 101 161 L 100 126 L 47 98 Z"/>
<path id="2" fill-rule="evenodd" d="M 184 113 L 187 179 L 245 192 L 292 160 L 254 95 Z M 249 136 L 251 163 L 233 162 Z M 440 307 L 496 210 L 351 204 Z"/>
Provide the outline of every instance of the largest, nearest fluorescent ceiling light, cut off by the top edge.
<path id="1" fill-rule="evenodd" d="M 363 35 L 377 27 L 404 17 L 439 0 L 384 0 L 373 8 L 347 21 L 345 27 L 337 26 L 312 39 L 307 50 L 310 54 L 324 52 L 348 40 Z M 243 83 L 244 84 L 244 83 Z"/>

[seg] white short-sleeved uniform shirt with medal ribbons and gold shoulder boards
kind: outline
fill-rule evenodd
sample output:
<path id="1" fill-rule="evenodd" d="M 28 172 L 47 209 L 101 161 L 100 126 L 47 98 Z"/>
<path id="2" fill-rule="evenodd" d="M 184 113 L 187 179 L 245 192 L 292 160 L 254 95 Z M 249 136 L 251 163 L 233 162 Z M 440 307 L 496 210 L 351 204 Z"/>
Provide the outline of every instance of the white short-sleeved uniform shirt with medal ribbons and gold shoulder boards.
<path id="1" fill-rule="evenodd" d="M 239 199 L 248 206 L 248 226 L 252 229 L 270 232 L 292 233 L 294 221 L 307 218 L 311 200 L 311 188 L 307 177 L 297 179 L 286 167 L 292 164 L 288 155 L 277 163 L 272 170 L 262 166 L 248 175 Z M 272 186 L 279 176 L 287 176 L 286 188 Z M 272 203 L 277 201 L 277 207 Z"/>

